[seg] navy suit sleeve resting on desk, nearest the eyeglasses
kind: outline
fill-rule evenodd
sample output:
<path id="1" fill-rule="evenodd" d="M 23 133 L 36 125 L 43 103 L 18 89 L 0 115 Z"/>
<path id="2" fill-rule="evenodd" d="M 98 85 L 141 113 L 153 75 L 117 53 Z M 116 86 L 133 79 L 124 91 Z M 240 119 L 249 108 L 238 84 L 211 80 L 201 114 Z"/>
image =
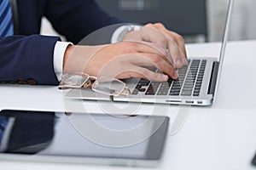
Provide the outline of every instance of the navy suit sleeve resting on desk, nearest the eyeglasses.
<path id="1" fill-rule="evenodd" d="M 33 79 L 38 84 L 58 84 L 53 66 L 58 40 L 39 35 L 0 38 L 0 81 Z"/>

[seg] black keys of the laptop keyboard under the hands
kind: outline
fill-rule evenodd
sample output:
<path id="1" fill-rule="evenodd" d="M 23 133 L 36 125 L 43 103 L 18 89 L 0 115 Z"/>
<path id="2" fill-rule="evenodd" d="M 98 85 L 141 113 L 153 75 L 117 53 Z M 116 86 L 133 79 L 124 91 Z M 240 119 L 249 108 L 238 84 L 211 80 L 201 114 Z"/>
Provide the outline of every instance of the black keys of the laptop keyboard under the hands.
<path id="1" fill-rule="evenodd" d="M 131 94 L 199 96 L 207 60 L 189 59 L 189 65 L 178 69 L 177 80 L 170 78 L 167 82 L 150 82 L 141 79 Z"/>

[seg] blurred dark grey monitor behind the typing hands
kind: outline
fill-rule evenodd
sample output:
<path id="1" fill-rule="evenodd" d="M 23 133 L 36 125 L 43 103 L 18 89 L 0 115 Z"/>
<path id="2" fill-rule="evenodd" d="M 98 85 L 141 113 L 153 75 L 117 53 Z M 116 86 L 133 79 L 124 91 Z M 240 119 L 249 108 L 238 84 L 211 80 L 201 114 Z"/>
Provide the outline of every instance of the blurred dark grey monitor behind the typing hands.
<path id="1" fill-rule="evenodd" d="M 108 14 L 127 22 L 163 23 L 186 42 L 207 40 L 206 0 L 96 0 Z"/>

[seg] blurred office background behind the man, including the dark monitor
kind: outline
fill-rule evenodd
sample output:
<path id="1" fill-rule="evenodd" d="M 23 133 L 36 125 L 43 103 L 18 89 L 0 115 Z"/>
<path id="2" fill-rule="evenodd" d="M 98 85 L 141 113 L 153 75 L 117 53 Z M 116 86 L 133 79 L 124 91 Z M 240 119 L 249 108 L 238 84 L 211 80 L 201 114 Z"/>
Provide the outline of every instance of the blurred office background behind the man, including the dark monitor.
<path id="1" fill-rule="evenodd" d="M 136 23 L 162 22 L 185 37 L 185 42 L 218 42 L 228 0 L 96 0 L 108 14 Z M 256 39 L 256 1 L 235 0 L 230 40 Z M 41 33 L 57 35 L 42 20 Z M 65 37 L 62 37 L 65 40 Z"/>

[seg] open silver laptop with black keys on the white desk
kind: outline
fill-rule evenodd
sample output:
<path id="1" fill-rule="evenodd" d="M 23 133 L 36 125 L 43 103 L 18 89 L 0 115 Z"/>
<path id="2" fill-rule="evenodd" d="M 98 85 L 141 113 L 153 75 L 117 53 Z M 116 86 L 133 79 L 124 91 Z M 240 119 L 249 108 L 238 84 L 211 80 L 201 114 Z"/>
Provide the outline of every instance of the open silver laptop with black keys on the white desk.
<path id="1" fill-rule="evenodd" d="M 129 96 L 119 95 L 113 101 L 159 103 L 176 105 L 212 105 L 217 94 L 218 82 L 224 63 L 224 53 L 229 37 L 231 13 L 234 0 L 229 0 L 224 34 L 217 58 L 190 58 L 189 65 L 178 69 L 178 79 L 167 82 L 150 82 L 131 78 L 124 82 L 130 89 Z M 90 89 L 71 89 L 67 94 L 71 99 L 111 100 L 107 95 L 100 95 Z"/>

